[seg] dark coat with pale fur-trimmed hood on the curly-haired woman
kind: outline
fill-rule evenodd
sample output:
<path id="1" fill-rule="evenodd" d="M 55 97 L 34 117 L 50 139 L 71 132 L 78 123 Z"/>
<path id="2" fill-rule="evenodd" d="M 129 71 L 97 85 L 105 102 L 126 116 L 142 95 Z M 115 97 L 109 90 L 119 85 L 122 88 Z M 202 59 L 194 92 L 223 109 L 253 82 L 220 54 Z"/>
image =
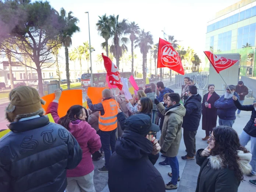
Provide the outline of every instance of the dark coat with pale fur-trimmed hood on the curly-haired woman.
<path id="1" fill-rule="evenodd" d="M 237 192 L 240 181 L 234 176 L 234 171 L 223 167 L 223 160 L 219 155 L 202 157 L 200 153 L 203 149 L 196 152 L 196 164 L 200 168 L 196 192 Z M 249 162 L 252 154 L 238 151 L 239 169 L 244 175 L 249 174 L 252 170 Z"/>

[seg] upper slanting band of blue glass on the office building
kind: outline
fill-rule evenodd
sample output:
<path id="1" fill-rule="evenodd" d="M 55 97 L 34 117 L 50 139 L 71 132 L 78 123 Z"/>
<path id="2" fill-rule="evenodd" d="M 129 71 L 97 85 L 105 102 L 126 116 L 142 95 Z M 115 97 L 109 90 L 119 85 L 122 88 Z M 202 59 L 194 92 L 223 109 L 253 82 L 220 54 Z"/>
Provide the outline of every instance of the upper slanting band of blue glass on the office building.
<path id="1" fill-rule="evenodd" d="M 256 15 L 256 6 L 207 26 L 207 33 Z"/>

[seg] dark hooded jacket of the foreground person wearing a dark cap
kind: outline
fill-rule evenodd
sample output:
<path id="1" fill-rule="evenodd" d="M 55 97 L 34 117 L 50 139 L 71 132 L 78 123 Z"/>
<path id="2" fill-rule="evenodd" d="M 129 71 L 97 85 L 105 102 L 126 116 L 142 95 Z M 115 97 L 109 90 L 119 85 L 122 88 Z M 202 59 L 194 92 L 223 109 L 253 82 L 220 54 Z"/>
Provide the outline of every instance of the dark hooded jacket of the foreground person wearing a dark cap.
<path id="1" fill-rule="evenodd" d="M 148 158 L 152 150 L 147 138 L 124 130 L 109 161 L 109 191 L 165 192 L 164 180 Z"/>

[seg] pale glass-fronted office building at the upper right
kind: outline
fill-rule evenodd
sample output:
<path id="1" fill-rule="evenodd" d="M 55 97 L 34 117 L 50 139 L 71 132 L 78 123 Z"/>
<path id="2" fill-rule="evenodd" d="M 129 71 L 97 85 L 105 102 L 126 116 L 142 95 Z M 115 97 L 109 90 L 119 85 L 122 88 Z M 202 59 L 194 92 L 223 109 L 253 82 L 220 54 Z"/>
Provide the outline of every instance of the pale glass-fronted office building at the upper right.
<path id="1" fill-rule="evenodd" d="M 207 23 L 206 50 L 215 54 L 239 53 L 239 75 L 256 77 L 256 0 L 239 1 L 217 15 Z M 209 61 L 205 61 L 207 68 Z"/>

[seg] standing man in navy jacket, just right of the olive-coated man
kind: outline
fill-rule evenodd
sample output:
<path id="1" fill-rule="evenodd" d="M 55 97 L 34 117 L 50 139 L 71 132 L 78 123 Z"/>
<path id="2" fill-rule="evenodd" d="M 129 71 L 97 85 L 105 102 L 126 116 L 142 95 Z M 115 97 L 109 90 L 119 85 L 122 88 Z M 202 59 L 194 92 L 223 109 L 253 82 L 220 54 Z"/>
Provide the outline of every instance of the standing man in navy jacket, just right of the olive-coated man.
<path id="1" fill-rule="evenodd" d="M 202 115 L 202 97 L 197 93 L 195 85 L 188 86 L 188 96 L 188 99 L 184 103 L 186 114 L 183 117 L 182 123 L 187 154 L 181 158 L 184 160 L 193 160 L 195 159 L 194 155 L 196 153 L 196 132 Z"/>

